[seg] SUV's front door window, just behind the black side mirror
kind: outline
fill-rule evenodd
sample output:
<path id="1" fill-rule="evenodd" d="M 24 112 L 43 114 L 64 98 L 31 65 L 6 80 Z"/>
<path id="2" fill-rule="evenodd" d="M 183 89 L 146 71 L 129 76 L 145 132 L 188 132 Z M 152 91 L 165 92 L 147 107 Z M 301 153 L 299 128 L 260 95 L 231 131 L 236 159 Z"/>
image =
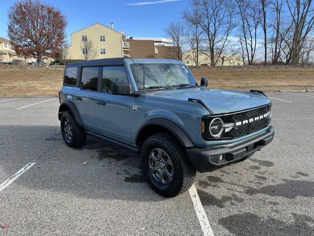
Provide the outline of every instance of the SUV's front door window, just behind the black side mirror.
<path id="1" fill-rule="evenodd" d="M 102 91 L 111 92 L 111 84 L 129 83 L 123 66 L 105 66 L 103 68 Z"/>

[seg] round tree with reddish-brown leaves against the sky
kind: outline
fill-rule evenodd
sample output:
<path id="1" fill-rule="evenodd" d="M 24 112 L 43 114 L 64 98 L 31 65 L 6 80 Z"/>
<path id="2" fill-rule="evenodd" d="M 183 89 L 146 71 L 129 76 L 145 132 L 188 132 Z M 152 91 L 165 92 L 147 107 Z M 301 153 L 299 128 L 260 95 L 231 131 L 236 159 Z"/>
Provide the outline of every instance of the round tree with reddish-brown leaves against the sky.
<path id="1" fill-rule="evenodd" d="M 17 54 L 54 57 L 62 48 L 67 26 L 66 16 L 57 8 L 39 0 L 18 0 L 9 9 L 8 36 Z"/>

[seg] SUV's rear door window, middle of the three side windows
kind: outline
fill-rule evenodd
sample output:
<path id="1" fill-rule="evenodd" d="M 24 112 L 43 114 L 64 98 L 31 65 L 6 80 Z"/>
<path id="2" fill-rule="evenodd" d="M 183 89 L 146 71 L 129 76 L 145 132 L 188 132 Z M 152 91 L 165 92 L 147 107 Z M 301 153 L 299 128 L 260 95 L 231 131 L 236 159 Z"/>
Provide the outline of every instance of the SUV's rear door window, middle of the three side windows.
<path id="1" fill-rule="evenodd" d="M 81 89 L 97 91 L 99 67 L 83 67 Z"/>

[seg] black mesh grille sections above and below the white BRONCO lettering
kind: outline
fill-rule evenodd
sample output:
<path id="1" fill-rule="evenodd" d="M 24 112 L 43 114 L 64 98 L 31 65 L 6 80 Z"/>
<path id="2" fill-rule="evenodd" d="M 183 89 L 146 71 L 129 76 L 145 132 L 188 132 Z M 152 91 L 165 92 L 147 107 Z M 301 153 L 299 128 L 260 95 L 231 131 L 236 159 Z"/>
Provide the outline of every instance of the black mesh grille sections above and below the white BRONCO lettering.
<path id="1" fill-rule="evenodd" d="M 246 112 L 241 112 L 241 113 L 236 113 L 234 115 L 232 115 L 230 118 L 232 120 L 232 122 L 238 122 L 238 121 L 243 121 L 246 119 L 250 119 L 250 118 L 255 118 L 255 117 L 259 117 L 261 115 L 267 114 L 267 112 L 270 111 L 271 105 L 267 105 L 267 106 L 263 106 L 257 109 L 253 109 L 253 110 L 249 110 Z M 239 126 L 236 126 L 235 128 L 233 128 L 230 131 L 230 136 L 231 137 L 239 137 L 242 135 L 246 135 L 249 133 L 252 133 L 256 130 L 262 129 L 264 127 L 267 127 L 267 125 L 270 122 L 270 118 L 267 116 L 265 118 L 259 119 L 259 120 L 255 120 L 251 123 L 247 123 L 247 124 L 242 124 Z"/>

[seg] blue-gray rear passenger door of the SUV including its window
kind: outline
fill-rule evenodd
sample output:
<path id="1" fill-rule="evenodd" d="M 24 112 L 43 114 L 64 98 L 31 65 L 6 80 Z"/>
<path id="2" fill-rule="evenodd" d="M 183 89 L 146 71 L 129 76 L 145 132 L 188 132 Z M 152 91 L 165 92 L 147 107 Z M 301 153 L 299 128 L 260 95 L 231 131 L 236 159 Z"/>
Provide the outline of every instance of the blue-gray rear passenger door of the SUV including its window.
<path id="1" fill-rule="evenodd" d="M 80 89 L 74 98 L 84 128 L 95 130 L 97 88 L 100 73 L 99 66 L 82 67 L 80 70 Z"/>

